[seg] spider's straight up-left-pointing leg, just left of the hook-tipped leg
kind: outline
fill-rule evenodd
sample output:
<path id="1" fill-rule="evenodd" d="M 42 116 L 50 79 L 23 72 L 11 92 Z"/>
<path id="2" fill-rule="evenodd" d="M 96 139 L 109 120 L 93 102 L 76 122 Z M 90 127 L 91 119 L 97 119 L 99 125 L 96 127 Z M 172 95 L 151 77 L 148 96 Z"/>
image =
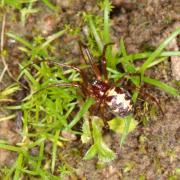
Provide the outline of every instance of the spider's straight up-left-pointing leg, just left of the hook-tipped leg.
<path id="1" fill-rule="evenodd" d="M 83 44 L 81 41 L 79 41 L 79 47 L 80 47 L 80 51 L 81 51 L 81 54 L 85 63 L 86 64 L 88 64 L 88 62 L 90 63 L 90 65 L 92 66 L 92 70 L 94 74 L 96 75 L 97 79 L 101 80 L 101 72 L 99 68 L 97 67 L 96 63 L 94 62 L 93 57 L 91 53 L 89 52 L 88 47 L 85 44 Z M 88 61 L 85 56 L 87 56 Z"/>

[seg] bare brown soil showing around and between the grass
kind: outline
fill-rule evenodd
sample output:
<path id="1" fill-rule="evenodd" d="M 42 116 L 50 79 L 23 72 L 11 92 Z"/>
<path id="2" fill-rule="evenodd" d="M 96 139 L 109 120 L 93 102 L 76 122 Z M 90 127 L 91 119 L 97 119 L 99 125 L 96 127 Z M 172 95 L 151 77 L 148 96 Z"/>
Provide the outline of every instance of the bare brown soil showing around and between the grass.
<path id="1" fill-rule="evenodd" d="M 95 0 L 54 0 L 61 7 L 62 12 L 55 14 L 40 2 L 37 6 L 43 11 L 35 13 L 22 26 L 19 14 L 9 10 L 6 19 L 6 32 L 12 31 L 27 39 L 41 34 L 49 34 L 62 29 L 64 24 L 77 27 L 81 24 L 79 12 L 88 11 L 99 14 Z M 123 37 L 129 53 L 151 50 L 162 42 L 177 27 L 180 27 L 180 2 L 178 0 L 112 0 L 111 35 L 115 43 Z M 0 13 L 2 17 L 2 13 Z M 176 39 L 178 41 L 178 39 Z M 178 45 L 178 43 L 177 43 Z M 79 50 L 77 41 L 72 36 L 65 35 L 60 42 L 55 42 L 56 56 L 60 59 L 74 59 L 78 62 Z M 14 76 L 18 74 L 18 63 L 23 58 L 17 48 L 17 43 L 7 39 L 5 48 L 8 50 L 7 62 Z M 175 47 L 177 49 L 177 47 Z M 179 48 L 179 47 L 178 47 Z M 161 73 L 150 72 L 156 79 L 170 82 L 173 80 L 171 62 L 167 61 L 166 68 Z M 1 64 L 1 70 L 2 70 Z M 8 77 L 3 79 L 1 88 L 12 81 Z M 9 83 L 7 83 L 9 82 Z M 180 168 L 180 100 L 160 93 L 165 116 L 152 118 L 146 126 L 140 125 L 131 133 L 122 149 L 119 148 L 118 137 L 109 134 L 110 147 L 117 153 L 117 159 L 106 166 L 99 167 L 97 159 L 83 161 L 83 154 L 87 147 L 78 142 L 68 144 L 62 152 L 64 160 L 74 168 L 75 173 L 65 179 L 88 180 L 118 180 L 118 179 L 148 179 L 164 180 L 178 179 L 177 169 Z M 7 114 L 1 108 L 0 116 Z M 19 140 L 16 124 L 12 121 L 0 123 L 0 138 L 15 144 Z M 15 130 L 14 130 L 15 129 Z M 76 151 L 78 156 L 73 156 Z M 9 158 L 12 157 L 12 158 Z M 10 165 L 14 154 L 0 150 L 0 166 Z M 179 169 L 178 169 L 179 170 Z M 179 174 L 180 175 L 180 174 Z"/>

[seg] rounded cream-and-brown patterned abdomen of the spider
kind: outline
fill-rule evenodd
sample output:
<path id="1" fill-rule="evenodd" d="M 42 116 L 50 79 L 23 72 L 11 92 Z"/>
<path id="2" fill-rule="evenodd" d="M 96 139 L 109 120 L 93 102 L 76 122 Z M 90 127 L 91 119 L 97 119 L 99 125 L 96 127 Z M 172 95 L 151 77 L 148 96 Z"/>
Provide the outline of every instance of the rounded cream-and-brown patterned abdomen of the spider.
<path id="1" fill-rule="evenodd" d="M 133 111 L 131 96 L 123 88 L 109 89 L 106 92 L 106 104 L 114 115 L 121 117 L 127 116 Z"/>

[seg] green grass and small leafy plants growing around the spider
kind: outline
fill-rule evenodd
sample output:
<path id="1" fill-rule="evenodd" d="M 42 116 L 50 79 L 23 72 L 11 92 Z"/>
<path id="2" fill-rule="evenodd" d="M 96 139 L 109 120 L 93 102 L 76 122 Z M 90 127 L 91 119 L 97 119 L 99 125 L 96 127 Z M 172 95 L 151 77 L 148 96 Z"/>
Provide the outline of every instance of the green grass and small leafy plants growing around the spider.
<path id="1" fill-rule="evenodd" d="M 49 4 L 48 1 L 43 2 Z M 103 46 L 111 42 L 109 13 L 112 6 L 108 0 L 104 0 L 101 7 L 104 10 L 104 18 L 84 14 L 89 30 L 87 44 L 94 56 L 101 55 Z M 73 69 L 59 68 L 57 66 L 50 67 L 46 61 L 43 62 L 43 59 L 58 61 L 58 59 L 51 57 L 48 52 L 51 48 L 51 42 L 66 32 L 66 29 L 59 31 L 47 39 L 38 37 L 33 42 L 29 42 L 14 33 L 7 34 L 22 45 L 19 49 L 26 54 L 20 66 L 22 70 L 19 79 L 22 77 L 26 79 L 30 93 L 24 97 L 21 104 L 6 107 L 23 112 L 23 128 L 20 133 L 22 141 L 16 146 L 12 146 L 6 141 L 0 142 L 0 148 L 14 151 L 18 154 L 15 164 L 4 171 L 6 174 L 4 179 L 9 179 L 11 176 L 14 179 L 24 176 L 58 179 L 59 173 L 69 174 L 70 170 L 68 169 L 67 171 L 67 168 L 62 166 L 56 169 L 56 164 L 60 161 L 57 154 L 60 153 L 64 143 L 69 141 L 67 137 L 62 135 L 63 131 L 68 132 L 70 135 L 81 135 L 83 143 L 88 143 L 93 138 L 93 144 L 85 154 L 84 159 L 88 160 L 98 156 L 100 161 L 109 162 L 115 158 L 115 153 L 103 141 L 102 128 L 104 124 L 102 119 L 88 115 L 88 109 L 94 103 L 94 100 L 91 97 L 87 97 L 84 101 L 80 90 L 75 87 L 53 86 L 57 83 L 80 82 L 82 80 L 79 74 Z M 145 71 L 163 62 L 165 57 L 180 55 L 176 51 L 163 51 L 167 44 L 179 33 L 180 29 L 177 29 L 154 52 L 128 54 L 123 39 L 120 40 L 118 52 L 113 52 L 112 48 L 108 47 L 106 57 L 109 78 L 115 82 L 117 79 L 123 78 L 130 73 L 139 73 L 141 81 L 138 76 L 129 76 L 129 81 L 136 87 L 141 87 L 142 83 L 148 83 L 173 96 L 178 96 L 179 92 L 175 88 L 159 80 L 147 77 Z M 36 64 L 34 62 L 37 59 L 40 61 L 37 61 L 38 63 Z M 134 65 L 134 61 L 138 60 L 144 60 L 143 65 L 140 67 Z M 116 69 L 116 65 L 119 63 L 122 64 L 125 72 L 122 73 Z M 135 103 L 138 91 L 134 91 L 132 97 Z M 88 118 L 92 120 L 92 137 Z M 84 120 L 82 129 L 77 129 L 76 125 L 82 119 Z M 121 135 L 120 145 L 122 146 L 128 133 L 137 126 L 137 121 L 131 115 L 125 118 L 115 117 L 108 121 L 108 124 L 111 130 Z M 45 148 L 49 144 L 51 148 L 47 153 Z M 37 149 L 36 154 L 32 153 L 34 149 Z"/>

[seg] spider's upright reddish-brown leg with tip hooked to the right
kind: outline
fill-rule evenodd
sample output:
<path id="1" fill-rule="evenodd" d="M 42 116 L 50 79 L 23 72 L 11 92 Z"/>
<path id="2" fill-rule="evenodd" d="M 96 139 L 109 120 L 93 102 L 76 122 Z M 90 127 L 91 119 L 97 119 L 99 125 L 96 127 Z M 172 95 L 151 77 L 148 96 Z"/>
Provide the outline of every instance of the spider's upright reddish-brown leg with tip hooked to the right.
<path id="1" fill-rule="evenodd" d="M 107 64 L 106 64 L 106 49 L 108 46 L 113 45 L 114 43 L 108 43 L 103 47 L 103 52 L 101 56 L 101 68 L 102 68 L 102 74 L 104 75 L 104 80 L 107 83 L 108 82 L 108 73 L 107 73 Z"/>

